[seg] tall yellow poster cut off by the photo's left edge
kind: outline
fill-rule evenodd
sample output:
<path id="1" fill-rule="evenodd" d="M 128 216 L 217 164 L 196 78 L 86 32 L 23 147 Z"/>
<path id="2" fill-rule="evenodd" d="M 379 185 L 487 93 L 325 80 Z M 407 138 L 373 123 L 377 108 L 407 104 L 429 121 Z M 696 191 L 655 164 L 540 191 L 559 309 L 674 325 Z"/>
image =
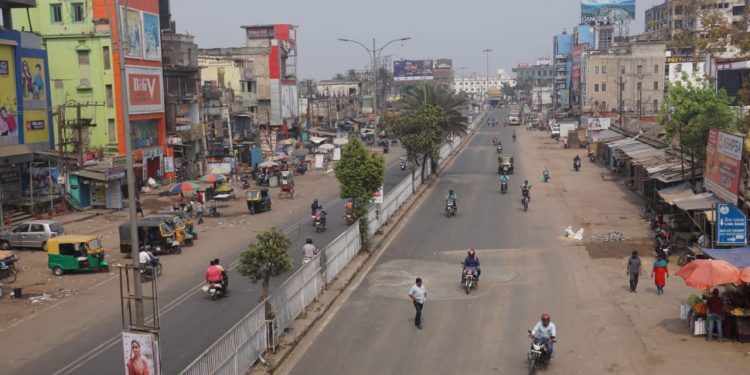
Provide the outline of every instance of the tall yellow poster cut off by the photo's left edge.
<path id="1" fill-rule="evenodd" d="M 18 143 L 13 47 L 0 45 L 0 145 Z"/>

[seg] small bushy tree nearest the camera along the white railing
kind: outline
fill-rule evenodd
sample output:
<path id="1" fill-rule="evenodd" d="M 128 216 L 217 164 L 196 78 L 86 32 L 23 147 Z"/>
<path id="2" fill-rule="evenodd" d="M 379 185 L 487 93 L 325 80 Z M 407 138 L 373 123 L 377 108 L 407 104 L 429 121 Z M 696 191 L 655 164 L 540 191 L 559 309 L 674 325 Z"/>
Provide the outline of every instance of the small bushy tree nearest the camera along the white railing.
<path id="1" fill-rule="evenodd" d="M 257 242 L 251 244 L 240 254 L 237 272 L 257 284 L 261 282 L 260 300 L 268 298 L 268 288 L 271 277 L 279 276 L 294 268 L 288 250 L 292 242 L 278 228 L 264 230 L 256 236 Z M 266 315 L 273 316 L 273 308 L 266 304 Z"/>

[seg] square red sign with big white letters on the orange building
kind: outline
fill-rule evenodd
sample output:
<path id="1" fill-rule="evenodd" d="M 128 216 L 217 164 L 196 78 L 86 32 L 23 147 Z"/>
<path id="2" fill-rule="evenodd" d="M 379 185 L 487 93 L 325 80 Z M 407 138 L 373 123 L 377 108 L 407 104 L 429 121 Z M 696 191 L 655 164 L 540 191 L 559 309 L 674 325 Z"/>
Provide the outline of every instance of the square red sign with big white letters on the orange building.
<path id="1" fill-rule="evenodd" d="M 164 112 L 161 68 L 126 67 L 130 113 Z"/>

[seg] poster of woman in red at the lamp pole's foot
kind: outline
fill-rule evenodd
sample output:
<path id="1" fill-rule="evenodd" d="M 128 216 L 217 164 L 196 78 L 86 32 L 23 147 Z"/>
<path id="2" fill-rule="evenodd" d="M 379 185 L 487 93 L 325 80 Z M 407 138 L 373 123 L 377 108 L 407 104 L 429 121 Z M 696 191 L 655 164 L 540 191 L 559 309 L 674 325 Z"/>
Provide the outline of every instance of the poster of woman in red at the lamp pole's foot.
<path id="1" fill-rule="evenodd" d="M 159 341 L 153 333 L 123 332 L 125 374 L 159 375 Z"/>

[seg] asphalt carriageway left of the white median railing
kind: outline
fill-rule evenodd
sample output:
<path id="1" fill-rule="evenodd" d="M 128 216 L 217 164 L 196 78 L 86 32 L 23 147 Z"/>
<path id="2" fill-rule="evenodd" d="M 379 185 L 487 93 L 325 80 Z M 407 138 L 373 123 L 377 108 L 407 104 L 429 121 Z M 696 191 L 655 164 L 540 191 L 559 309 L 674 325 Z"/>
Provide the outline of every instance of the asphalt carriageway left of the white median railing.
<path id="1" fill-rule="evenodd" d="M 392 148 L 391 152 L 400 152 Z M 387 193 L 407 176 L 408 171 L 399 168 L 398 159 L 387 166 L 385 192 Z M 337 192 L 334 192 L 337 195 Z M 333 194 L 332 194 L 333 195 Z M 308 202 L 310 203 L 310 202 Z M 329 212 L 329 228 L 324 233 L 315 233 L 309 217 L 290 217 L 281 228 L 289 228 L 293 240 L 290 255 L 296 265 L 301 264 L 302 244 L 307 236 L 314 238 L 318 246 L 332 241 L 345 229 L 338 216 L 343 213 L 343 202 L 335 199 L 332 204 L 321 199 Z M 262 214 L 261 214 L 262 215 Z M 253 234 L 248 234 L 251 240 Z M 244 241 L 246 243 L 247 241 Z M 223 264 L 233 264 L 245 246 L 224 250 Z M 194 248 L 186 251 L 204 251 L 206 262 L 216 255 L 205 244 L 198 241 Z M 228 298 L 211 301 L 199 287 L 202 285 L 204 266 L 187 265 L 176 257 L 173 267 L 165 268 L 168 280 L 159 286 L 160 300 L 160 347 L 162 373 L 176 374 L 192 362 L 210 344 L 231 328 L 240 318 L 256 306 L 260 297 L 260 286 L 230 271 Z M 183 268 L 184 267 L 184 268 Z M 292 273 L 286 275 L 288 277 Z M 272 288 L 280 285 L 285 276 L 276 278 Z M 111 288 L 110 288 L 111 289 Z M 80 316 L 60 316 L 58 321 L 45 321 L 44 324 L 66 324 L 71 319 L 84 319 L 90 324 L 85 332 L 74 337 L 59 338 L 59 345 L 50 351 L 37 353 L 39 360 L 21 365 L 14 370 L 17 374 L 116 374 L 122 373 L 122 347 L 119 333 L 122 330 L 119 306 L 101 306 L 95 311 L 82 312 Z M 34 351 L 34 348 L 29 348 Z M 12 362 L 12 361 L 11 361 Z M 0 369 L 0 373 L 4 370 Z"/>

